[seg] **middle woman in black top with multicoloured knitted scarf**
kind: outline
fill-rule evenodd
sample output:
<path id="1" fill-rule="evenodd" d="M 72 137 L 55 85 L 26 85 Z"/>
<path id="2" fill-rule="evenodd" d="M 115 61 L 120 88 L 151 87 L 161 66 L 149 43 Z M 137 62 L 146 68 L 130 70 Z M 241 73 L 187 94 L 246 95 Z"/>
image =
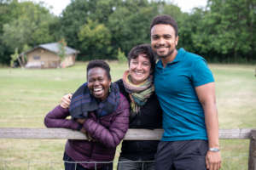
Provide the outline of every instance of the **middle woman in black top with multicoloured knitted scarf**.
<path id="1" fill-rule="evenodd" d="M 154 94 L 155 58 L 149 44 L 138 45 L 128 54 L 129 70 L 117 81 L 119 90 L 130 102 L 129 128 L 161 128 L 162 112 Z M 124 140 L 119 170 L 154 169 L 154 154 L 159 141 Z"/>

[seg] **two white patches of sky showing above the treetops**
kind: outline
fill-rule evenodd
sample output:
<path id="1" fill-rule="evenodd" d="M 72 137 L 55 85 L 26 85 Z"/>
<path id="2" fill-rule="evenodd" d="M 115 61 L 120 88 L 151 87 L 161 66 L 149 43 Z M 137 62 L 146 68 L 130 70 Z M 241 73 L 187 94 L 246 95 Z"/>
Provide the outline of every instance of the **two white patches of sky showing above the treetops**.
<path id="1" fill-rule="evenodd" d="M 67 7 L 70 0 L 32 0 L 33 2 L 44 2 L 47 7 L 52 6 L 50 10 L 55 15 L 60 15 L 62 10 Z M 177 4 L 183 12 L 190 12 L 192 8 L 195 7 L 205 7 L 207 5 L 207 0 L 169 0 L 174 4 Z"/>

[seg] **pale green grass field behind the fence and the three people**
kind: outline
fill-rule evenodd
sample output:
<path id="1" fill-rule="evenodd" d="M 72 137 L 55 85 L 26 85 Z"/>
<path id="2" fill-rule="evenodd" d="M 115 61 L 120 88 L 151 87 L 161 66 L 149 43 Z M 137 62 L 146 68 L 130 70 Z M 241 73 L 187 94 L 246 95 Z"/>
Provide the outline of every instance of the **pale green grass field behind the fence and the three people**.
<path id="1" fill-rule="evenodd" d="M 61 97 L 85 82 L 85 63 L 67 69 L 0 68 L 0 127 L 44 127 Z M 113 81 L 126 64 L 110 63 Z M 216 80 L 219 127 L 256 128 L 253 65 L 210 65 Z M 221 140 L 223 168 L 247 169 L 248 140 Z M 65 140 L 0 139 L 0 170 L 63 169 Z"/>

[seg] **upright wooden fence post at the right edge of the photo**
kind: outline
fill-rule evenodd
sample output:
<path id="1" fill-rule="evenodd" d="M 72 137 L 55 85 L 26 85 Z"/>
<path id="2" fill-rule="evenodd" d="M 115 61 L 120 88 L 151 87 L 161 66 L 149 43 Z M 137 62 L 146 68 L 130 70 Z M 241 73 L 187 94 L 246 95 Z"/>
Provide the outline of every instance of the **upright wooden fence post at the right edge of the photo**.
<path id="1" fill-rule="evenodd" d="M 256 170 L 256 130 L 251 131 L 248 170 Z"/>

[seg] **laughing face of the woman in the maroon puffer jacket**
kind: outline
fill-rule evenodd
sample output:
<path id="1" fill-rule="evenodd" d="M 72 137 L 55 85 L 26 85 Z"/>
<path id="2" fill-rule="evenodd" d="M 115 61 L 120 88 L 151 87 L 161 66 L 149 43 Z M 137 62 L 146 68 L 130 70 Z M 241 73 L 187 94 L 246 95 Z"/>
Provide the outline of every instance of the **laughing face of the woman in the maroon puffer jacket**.
<path id="1" fill-rule="evenodd" d="M 95 67 L 87 73 L 87 82 L 90 93 L 97 99 L 107 99 L 111 80 L 104 69 Z"/>

